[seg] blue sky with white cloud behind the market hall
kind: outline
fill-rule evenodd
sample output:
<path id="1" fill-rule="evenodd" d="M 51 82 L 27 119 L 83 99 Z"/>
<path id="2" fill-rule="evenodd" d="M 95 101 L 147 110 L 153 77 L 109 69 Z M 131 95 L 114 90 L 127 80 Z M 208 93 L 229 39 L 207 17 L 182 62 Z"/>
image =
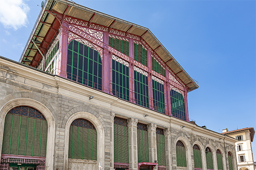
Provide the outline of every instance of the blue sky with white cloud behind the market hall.
<path id="1" fill-rule="evenodd" d="M 0 55 L 18 61 L 41 0 L 0 1 Z M 216 132 L 256 128 L 255 0 L 74 1 L 155 34 L 199 82 L 188 94 L 197 125 Z"/>

